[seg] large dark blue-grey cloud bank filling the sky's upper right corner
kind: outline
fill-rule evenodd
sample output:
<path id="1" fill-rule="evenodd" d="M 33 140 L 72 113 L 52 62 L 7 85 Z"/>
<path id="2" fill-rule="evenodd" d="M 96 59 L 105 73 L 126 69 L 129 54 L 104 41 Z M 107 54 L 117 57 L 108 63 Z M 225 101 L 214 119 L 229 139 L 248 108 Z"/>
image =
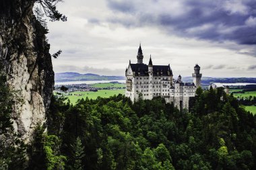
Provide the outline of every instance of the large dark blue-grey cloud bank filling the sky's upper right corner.
<path id="1" fill-rule="evenodd" d="M 178 36 L 256 44 L 255 0 L 108 0 L 108 7 L 133 15 L 110 19 L 124 26 L 156 26 Z"/>

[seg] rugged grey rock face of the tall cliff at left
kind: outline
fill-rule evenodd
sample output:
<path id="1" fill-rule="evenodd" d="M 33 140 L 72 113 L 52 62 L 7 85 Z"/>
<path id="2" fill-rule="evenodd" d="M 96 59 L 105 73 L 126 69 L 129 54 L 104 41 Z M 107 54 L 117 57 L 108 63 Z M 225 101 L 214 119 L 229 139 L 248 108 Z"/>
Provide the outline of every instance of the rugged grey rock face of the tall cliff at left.
<path id="1" fill-rule="evenodd" d="M 50 45 L 33 5 L 31 0 L 0 0 L 0 61 L 16 94 L 13 127 L 26 143 L 46 121 L 54 87 Z"/>

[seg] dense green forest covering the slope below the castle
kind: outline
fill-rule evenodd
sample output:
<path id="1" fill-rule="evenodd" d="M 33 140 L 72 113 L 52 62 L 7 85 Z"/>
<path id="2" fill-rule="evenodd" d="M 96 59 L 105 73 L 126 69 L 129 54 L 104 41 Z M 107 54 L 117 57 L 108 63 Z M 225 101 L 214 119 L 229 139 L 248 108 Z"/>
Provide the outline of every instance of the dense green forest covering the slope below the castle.
<path id="1" fill-rule="evenodd" d="M 197 89 L 181 112 L 160 97 L 64 100 L 53 97 L 29 169 L 256 169 L 256 118 L 222 88 Z"/>

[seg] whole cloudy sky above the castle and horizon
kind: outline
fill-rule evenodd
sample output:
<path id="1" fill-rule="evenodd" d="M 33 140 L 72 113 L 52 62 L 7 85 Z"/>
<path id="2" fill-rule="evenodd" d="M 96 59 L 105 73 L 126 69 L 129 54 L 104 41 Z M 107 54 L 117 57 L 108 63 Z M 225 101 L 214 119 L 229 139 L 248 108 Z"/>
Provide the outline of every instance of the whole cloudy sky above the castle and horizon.
<path id="1" fill-rule="evenodd" d="M 168 65 L 174 77 L 256 77 L 255 0 L 65 0 L 49 22 L 55 73 L 124 75 L 129 60 Z"/>

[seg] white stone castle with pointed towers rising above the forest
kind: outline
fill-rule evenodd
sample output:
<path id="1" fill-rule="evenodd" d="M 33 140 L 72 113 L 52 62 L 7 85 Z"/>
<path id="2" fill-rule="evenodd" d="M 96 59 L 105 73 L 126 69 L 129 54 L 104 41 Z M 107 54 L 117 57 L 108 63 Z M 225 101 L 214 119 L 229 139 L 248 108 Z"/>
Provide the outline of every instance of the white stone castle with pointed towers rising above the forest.
<path id="1" fill-rule="evenodd" d="M 201 85 L 199 65 L 195 65 L 194 71 L 193 83 L 183 83 L 181 75 L 174 80 L 170 65 L 153 65 L 151 56 L 148 65 L 143 64 L 143 53 L 139 45 L 137 63 L 132 64 L 130 60 L 125 71 L 125 96 L 130 97 L 133 102 L 139 99 L 139 95 L 142 99 L 160 96 L 179 109 L 188 109 L 189 98 L 195 97 L 195 90 Z"/>

